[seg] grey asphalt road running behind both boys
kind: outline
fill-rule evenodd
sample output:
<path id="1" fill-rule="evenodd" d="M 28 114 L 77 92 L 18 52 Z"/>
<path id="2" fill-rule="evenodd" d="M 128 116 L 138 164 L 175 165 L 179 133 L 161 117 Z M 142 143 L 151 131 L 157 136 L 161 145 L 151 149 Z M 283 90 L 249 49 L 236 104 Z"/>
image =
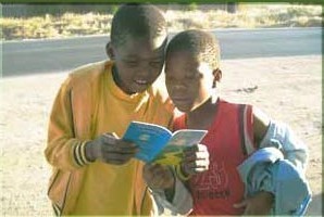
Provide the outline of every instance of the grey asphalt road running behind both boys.
<path id="1" fill-rule="evenodd" d="M 222 59 L 322 54 L 322 28 L 214 30 Z M 108 36 L 2 42 L 3 77 L 68 71 L 107 59 Z"/>

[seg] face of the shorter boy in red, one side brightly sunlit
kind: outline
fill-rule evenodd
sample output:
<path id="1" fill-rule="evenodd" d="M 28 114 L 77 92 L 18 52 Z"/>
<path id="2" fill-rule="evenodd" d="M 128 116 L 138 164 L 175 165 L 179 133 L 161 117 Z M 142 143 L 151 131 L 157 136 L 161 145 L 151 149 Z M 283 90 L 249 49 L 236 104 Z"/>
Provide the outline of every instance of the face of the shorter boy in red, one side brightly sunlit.
<path id="1" fill-rule="evenodd" d="M 175 106 L 190 112 L 211 95 L 213 82 L 209 64 L 199 62 L 198 56 L 187 51 L 167 54 L 165 60 L 166 89 Z"/>

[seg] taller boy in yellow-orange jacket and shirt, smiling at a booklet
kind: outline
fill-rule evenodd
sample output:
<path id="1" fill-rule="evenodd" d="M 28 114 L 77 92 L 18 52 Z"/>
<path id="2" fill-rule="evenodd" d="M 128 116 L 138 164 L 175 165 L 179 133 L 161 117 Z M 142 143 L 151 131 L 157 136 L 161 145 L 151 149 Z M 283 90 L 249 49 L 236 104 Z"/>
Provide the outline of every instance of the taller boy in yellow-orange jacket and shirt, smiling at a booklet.
<path id="1" fill-rule="evenodd" d="M 75 69 L 53 103 L 48 195 L 58 215 L 149 215 L 151 199 L 135 144 L 122 141 L 130 120 L 169 126 L 173 106 L 153 81 L 164 63 L 166 22 L 148 4 L 126 4 L 112 21 L 111 61 Z"/>

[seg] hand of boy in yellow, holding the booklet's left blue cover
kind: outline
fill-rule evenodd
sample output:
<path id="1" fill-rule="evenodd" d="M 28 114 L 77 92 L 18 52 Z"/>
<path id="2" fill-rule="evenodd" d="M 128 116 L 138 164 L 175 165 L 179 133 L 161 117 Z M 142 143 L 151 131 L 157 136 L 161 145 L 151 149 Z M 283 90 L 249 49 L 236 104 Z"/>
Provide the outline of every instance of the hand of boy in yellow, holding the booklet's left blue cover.
<path id="1" fill-rule="evenodd" d="M 86 155 L 90 161 L 100 159 L 115 165 L 125 164 L 137 151 L 134 143 L 123 141 L 114 133 L 103 133 L 86 145 Z"/>

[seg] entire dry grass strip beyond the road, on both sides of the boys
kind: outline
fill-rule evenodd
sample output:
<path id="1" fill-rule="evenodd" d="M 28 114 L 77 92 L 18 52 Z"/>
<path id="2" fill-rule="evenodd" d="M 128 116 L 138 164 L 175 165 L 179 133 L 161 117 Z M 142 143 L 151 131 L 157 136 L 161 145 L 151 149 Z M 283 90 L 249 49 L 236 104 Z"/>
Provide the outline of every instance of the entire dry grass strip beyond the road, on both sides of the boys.
<path id="1" fill-rule="evenodd" d="M 209 10 L 205 10 L 208 8 Z M 254 28 L 321 26 L 321 5 L 239 4 L 237 13 L 215 10 L 165 11 L 171 31 L 188 28 Z M 30 18 L 0 18 L 2 40 L 62 38 L 82 35 L 109 34 L 112 14 L 46 14 Z"/>

